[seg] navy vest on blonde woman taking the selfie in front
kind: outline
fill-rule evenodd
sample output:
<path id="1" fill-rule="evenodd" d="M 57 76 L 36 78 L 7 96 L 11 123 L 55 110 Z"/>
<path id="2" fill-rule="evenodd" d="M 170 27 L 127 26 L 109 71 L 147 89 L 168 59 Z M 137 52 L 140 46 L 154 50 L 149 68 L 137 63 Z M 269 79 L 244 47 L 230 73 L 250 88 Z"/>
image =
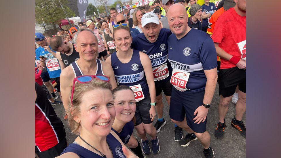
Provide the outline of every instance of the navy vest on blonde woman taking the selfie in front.
<path id="1" fill-rule="evenodd" d="M 110 146 L 113 158 L 126 158 L 123 154 L 121 143 L 111 133 L 106 136 L 106 141 Z M 68 152 L 75 153 L 80 158 L 102 158 L 102 156 L 75 143 L 69 144 L 69 146 L 67 146 L 61 154 Z"/>

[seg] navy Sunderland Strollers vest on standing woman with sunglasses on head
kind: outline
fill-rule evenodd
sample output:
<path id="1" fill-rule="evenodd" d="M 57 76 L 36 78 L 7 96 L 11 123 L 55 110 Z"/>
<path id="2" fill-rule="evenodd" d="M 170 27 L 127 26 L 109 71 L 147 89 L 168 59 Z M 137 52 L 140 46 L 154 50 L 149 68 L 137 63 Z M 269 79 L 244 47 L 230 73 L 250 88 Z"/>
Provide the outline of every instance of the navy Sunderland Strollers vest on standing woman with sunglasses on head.
<path id="1" fill-rule="evenodd" d="M 140 84 L 143 95 L 148 94 L 148 85 L 143 70 L 143 65 L 140 62 L 140 52 L 133 50 L 133 55 L 130 62 L 124 64 L 120 62 L 116 53 L 111 55 L 111 66 L 114 71 L 115 78 L 119 85 L 134 86 Z"/>

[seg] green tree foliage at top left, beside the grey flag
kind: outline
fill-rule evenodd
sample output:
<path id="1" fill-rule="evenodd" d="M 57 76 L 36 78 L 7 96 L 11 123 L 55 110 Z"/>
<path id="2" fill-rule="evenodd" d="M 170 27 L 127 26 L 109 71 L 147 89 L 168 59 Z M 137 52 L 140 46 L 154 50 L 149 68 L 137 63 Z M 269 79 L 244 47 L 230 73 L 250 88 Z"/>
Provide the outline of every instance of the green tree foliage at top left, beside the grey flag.
<path id="1" fill-rule="evenodd" d="M 56 23 L 66 17 L 75 16 L 74 12 L 67 7 L 67 0 L 35 0 L 35 22 Z"/>

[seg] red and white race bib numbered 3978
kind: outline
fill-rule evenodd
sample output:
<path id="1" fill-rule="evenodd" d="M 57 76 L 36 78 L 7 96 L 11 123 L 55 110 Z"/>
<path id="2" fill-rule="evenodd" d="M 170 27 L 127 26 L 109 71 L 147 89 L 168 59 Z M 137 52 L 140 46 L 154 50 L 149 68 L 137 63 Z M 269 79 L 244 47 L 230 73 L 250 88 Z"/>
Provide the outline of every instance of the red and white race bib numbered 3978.
<path id="1" fill-rule="evenodd" d="M 186 88 L 188 78 L 189 73 L 173 69 L 170 82 L 177 90 L 184 92 L 186 90 L 189 90 Z"/>

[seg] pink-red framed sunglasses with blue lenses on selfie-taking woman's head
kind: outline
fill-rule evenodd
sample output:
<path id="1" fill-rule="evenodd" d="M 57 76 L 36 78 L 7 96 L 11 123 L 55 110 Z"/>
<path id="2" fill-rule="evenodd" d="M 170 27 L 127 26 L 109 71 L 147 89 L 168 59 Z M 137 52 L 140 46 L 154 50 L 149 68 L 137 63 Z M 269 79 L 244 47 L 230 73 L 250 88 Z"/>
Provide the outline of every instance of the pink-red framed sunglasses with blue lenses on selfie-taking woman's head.
<path id="1" fill-rule="evenodd" d="M 84 76 L 79 76 L 73 79 L 73 85 L 72 85 L 72 90 L 71 90 L 71 106 L 72 105 L 72 99 L 73 99 L 73 93 L 74 93 L 74 87 L 75 87 L 75 81 L 79 82 L 79 83 L 89 83 L 91 82 L 93 79 L 98 79 L 101 81 L 105 81 L 105 82 L 109 82 L 109 77 L 105 76 L 105 75 L 84 75 Z"/>

